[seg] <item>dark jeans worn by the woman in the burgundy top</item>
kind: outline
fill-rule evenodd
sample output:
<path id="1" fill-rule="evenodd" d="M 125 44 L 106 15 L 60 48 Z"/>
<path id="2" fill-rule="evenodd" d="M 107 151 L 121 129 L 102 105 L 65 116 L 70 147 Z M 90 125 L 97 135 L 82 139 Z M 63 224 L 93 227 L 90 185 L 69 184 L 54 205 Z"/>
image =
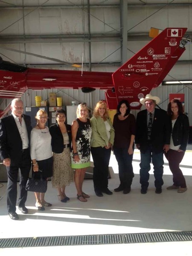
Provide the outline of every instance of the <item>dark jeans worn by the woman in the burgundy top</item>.
<path id="1" fill-rule="evenodd" d="M 134 177 L 133 155 L 128 154 L 128 148 L 113 148 L 113 152 L 119 166 L 120 187 L 122 189 L 130 188 Z"/>

